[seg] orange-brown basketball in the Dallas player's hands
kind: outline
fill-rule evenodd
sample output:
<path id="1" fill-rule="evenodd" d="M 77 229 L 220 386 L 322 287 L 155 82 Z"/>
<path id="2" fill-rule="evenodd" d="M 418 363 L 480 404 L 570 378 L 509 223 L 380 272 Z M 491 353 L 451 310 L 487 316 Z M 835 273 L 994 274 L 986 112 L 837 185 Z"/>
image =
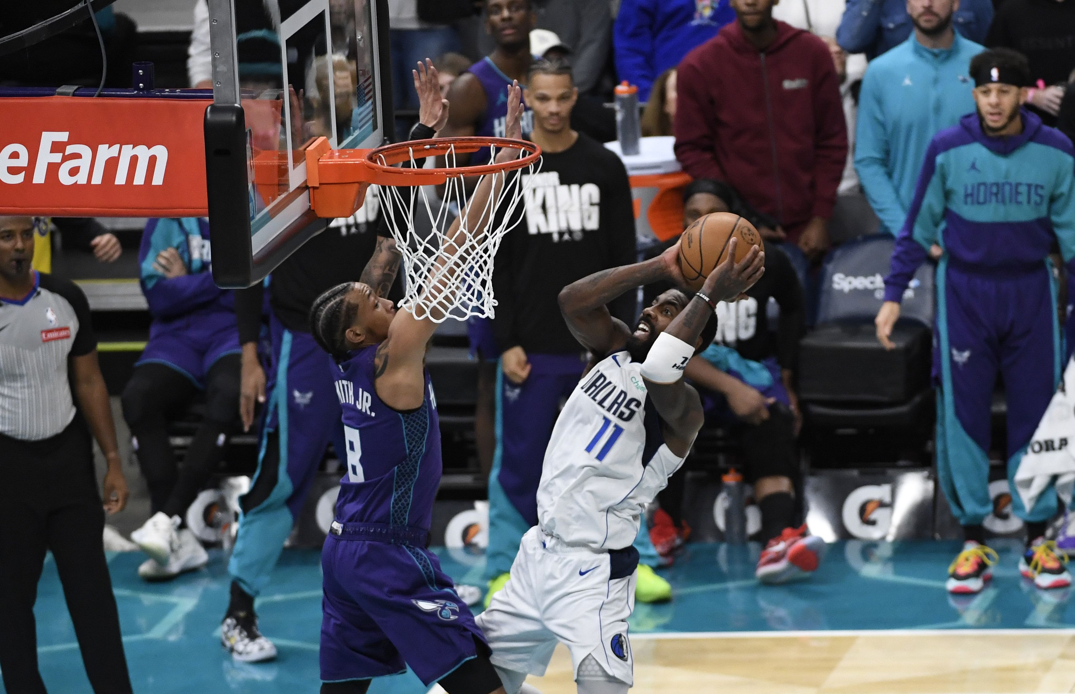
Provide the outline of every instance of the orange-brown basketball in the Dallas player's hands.
<path id="1" fill-rule="evenodd" d="M 694 292 L 702 288 L 713 268 L 728 257 L 728 243 L 733 236 L 739 239 L 735 263 L 746 257 L 754 245 L 765 250 L 754 225 L 731 212 L 706 214 L 687 227 L 679 237 L 679 271 L 688 287 Z"/>

